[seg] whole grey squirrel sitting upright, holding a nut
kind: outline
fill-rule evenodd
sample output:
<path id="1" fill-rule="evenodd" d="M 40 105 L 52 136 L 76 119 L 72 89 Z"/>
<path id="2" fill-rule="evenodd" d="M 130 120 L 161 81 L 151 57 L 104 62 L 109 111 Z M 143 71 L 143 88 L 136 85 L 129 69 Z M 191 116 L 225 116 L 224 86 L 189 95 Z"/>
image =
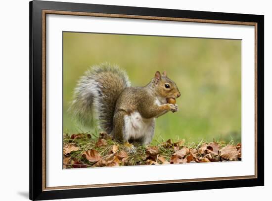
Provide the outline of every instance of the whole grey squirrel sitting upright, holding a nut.
<path id="1" fill-rule="evenodd" d="M 97 119 L 100 129 L 133 151 L 135 147 L 129 141 L 149 144 L 155 118 L 178 111 L 175 99 L 180 96 L 176 83 L 165 71 L 162 75 L 156 71 L 144 87 L 131 87 L 124 70 L 101 64 L 91 67 L 80 78 L 70 110 L 85 126 L 93 126 Z"/>

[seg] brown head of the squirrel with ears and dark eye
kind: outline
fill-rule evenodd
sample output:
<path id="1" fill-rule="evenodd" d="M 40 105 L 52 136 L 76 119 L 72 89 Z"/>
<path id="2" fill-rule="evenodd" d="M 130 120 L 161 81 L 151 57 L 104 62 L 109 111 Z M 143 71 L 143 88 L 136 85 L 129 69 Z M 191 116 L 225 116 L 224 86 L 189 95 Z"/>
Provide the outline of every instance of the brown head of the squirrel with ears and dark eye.
<path id="1" fill-rule="evenodd" d="M 156 93 L 161 97 L 177 99 L 181 96 L 176 83 L 167 77 L 166 71 L 163 71 L 162 75 L 157 71 L 153 83 Z"/>

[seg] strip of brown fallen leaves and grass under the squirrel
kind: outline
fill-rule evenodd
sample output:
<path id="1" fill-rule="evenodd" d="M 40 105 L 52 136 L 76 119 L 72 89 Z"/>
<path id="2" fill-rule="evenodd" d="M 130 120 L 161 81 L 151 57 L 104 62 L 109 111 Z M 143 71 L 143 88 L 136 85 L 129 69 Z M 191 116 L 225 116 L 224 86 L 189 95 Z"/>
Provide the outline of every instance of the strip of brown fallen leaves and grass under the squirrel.
<path id="1" fill-rule="evenodd" d="M 133 143 L 135 153 L 128 153 L 120 143 L 106 133 L 65 134 L 63 168 L 116 167 L 241 161 L 241 143 L 186 143 L 185 140 L 157 142 L 156 146 Z"/>

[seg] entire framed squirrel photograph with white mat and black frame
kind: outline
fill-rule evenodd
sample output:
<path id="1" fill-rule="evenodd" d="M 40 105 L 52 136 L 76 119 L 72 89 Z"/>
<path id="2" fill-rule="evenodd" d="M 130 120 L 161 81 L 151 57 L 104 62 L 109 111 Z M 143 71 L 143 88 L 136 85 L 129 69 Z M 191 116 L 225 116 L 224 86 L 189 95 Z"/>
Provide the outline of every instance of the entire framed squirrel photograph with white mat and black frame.
<path id="1" fill-rule="evenodd" d="M 30 199 L 264 185 L 264 16 L 30 2 Z"/>

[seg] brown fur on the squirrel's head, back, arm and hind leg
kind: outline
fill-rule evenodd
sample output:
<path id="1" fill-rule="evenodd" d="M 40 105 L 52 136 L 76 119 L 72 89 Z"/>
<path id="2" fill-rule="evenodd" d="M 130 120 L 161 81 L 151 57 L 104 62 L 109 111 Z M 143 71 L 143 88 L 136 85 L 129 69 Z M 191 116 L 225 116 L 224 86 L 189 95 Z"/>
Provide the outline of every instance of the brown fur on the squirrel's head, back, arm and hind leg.
<path id="1" fill-rule="evenodd" d="M 163 73 L 166 75 L 166 72 Z M 170 88 L 165 88 L 168 83 Z M 172 104 L 158 105 L 155 103 L 158 97 L 178 98 L 180 92 L 175 82 L 167 76 L 161 76 L 157 71 L 154 79 L 144 87 L 127 87 L 120 94 L 114 112 L 114 124 L 112 135 L 119 140 L 123 139 L 124 116 L 138 111 L 143 118 L 158 117 L 161 113 L 169 111 Z"/>

